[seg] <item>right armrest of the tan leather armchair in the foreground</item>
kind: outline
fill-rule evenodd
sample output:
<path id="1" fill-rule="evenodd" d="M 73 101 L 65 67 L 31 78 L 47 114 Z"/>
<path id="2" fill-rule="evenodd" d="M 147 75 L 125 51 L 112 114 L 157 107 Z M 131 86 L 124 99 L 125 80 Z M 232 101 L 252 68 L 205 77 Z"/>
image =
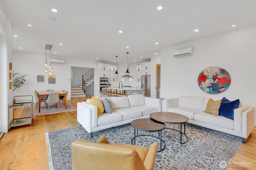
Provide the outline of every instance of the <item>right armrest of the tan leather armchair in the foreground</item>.
<path id="1" fill-rule="evenodd" d="M 143 162 L 145 168 L 147 170 L 152 170 L 154 167 L 155 159 L 156 159 L 156 152 L 158 149 L 158 143 L 154 142 L 150 148 L 148 149 L 148 153 L 146 155 L 146 158 Z"/>

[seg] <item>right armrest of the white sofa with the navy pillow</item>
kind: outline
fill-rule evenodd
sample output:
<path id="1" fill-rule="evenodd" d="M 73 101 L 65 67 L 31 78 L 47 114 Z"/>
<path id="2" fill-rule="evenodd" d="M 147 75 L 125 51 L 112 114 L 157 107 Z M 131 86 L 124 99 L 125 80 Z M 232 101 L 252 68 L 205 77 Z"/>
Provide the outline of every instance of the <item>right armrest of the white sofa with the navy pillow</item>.
<path id="1" fill-rule="evenodd" d="M 242 112 L 242 129 L 243 138 L 247 138 L 254 129 L 254 107 L 249 107 Z"/>

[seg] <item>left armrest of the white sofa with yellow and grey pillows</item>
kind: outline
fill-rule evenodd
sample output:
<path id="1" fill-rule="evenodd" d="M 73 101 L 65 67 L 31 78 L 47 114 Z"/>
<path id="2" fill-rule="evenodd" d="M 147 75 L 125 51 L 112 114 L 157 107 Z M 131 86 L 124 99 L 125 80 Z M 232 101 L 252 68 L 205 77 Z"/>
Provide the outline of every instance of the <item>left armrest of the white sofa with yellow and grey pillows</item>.
<path id="1" fill-rule="evenodd" d="M 77 121 L 88 131 L 98 126 L 98 107 L 87 102 L 77 103 Z"/>

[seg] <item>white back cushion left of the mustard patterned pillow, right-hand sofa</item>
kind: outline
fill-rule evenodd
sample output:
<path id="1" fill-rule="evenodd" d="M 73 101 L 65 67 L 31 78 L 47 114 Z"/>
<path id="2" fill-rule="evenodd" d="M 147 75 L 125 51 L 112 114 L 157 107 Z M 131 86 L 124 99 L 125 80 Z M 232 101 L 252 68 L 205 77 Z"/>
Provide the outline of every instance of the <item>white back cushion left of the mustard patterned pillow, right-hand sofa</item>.
<path id="1" fill-rule="evenodd" d="M 204 111 L 204 98 L 180 96 L 178 106 Z"/>

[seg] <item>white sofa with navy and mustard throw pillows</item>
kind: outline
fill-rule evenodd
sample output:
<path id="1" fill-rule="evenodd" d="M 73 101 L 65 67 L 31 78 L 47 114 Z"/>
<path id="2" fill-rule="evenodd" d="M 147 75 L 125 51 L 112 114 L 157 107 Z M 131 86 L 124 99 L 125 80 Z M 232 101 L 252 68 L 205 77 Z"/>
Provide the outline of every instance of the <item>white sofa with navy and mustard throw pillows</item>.
<path id="1" fill-rule="evenodd" d="M 162 111 L 179 113 L 188 117 L 188 123 L 242 137 L 242 143 L 254 129 L 254 107 L 234 109 L 234 120 L 205 113 L 208 98 L 180 96 L 162 101 Z"/>

